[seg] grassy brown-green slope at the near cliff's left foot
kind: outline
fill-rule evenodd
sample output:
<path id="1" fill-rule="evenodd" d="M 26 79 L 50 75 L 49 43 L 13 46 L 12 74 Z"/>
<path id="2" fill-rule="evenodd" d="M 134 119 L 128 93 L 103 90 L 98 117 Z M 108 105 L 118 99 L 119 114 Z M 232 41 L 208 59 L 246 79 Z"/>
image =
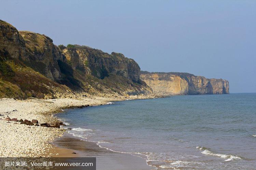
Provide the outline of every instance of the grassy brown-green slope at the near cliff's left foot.
<path id="1" fill-rule="evenodd" d="M 53 82 L 19 60 L 12 60 L 0 52 L 0 98 L 44 98 L 54 95 L 53 89 L 65 91 L 65 87 Z"/>

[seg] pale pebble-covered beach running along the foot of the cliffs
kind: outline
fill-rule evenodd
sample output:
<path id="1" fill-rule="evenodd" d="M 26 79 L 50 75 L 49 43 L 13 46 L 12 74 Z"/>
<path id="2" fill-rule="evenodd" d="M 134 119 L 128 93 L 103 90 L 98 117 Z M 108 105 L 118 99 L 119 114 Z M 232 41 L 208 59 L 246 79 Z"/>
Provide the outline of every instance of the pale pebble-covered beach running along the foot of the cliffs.
<path id="1" fill-rule="evenodd" d="M 30 126 L 20 122 L 6 121 L 5 118 L 38 120 L 38 124 L 54 124 L 59 120 L 55 113 L 62 112 L 64 108 L 81 106 L 95 106 L 107 104 L 110 101 L 122 101 L 132 99 L 146 99 L 154 96 L 129 96 L 129 97 L 87 97 L 65 99 L 0 99 L 0 157 L 72 157 L 69 151 L 58 150 L 49 144 L 63 135 L 65 129 L 48 128 L 42 126 Z M 15 146 L 15 147 L 14 147 Z M 59 153 L 56 152 L 59 151 Z M 66 152 L 65 152 L 66 151 Z"/>

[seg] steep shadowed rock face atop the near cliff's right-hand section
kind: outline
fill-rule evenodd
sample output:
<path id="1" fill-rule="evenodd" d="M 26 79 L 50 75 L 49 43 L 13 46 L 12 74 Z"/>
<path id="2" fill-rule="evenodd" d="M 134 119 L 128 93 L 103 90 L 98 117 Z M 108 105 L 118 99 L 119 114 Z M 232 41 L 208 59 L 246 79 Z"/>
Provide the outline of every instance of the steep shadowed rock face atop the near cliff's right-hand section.
<path id="1" fill-rule="evenodd" d="M 79 69 L 99 79 L 104 79 L 112 73 L 125 77 L 134 83 L 140 83 L 139 65 L 121 53 L 108 54 L 98 49 L 79 45 L 64 48 L 62 53 L 73 69 Z"/>

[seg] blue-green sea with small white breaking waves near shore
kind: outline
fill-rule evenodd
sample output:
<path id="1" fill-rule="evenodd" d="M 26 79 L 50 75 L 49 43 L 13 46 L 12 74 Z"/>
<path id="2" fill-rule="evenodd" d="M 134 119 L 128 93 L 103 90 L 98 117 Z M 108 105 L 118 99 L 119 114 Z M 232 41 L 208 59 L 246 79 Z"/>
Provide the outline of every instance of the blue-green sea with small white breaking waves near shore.
<path id="1" fill-rule="evenodd" d="M 255 93 L 114 103 L 58 116 L 74 136 L 143 154 L 159 169 L 256 168 Z"/>

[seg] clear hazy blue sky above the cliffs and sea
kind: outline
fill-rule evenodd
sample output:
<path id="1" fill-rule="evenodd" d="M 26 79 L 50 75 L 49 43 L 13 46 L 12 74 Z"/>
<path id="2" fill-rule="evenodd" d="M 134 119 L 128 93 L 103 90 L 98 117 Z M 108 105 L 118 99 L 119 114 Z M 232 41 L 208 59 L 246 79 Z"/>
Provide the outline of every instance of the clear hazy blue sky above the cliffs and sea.
<path id="1" fill-rule="evenodd" d="M 256 0 L 0 0 L 0 19 L 55 45 L 120 52 L 141 70 L 188 72 L 256 92 Z"/>

